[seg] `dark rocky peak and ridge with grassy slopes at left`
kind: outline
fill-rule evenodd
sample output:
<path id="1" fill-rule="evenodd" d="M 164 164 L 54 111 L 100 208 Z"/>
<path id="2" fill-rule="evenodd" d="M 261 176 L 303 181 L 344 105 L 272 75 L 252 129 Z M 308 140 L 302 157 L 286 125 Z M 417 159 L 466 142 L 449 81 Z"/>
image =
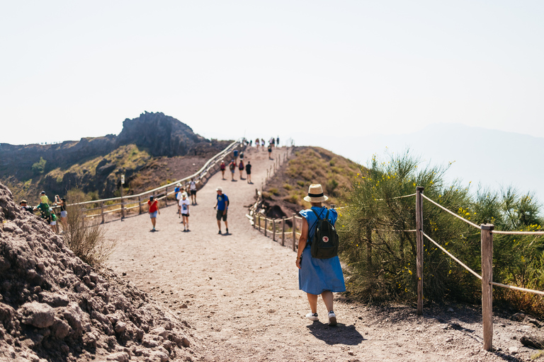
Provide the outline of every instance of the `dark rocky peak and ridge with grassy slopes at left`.
<path id="1" fill-rule="evenodd" d="M 72 187 L 111 197 L 121 174 L 128 180 L 160 157 L 209 157 L 226 143 L 205 139 L 161 112 L 144 112 L 125 119 L 118 136 L 47 145 L 0 144 L 0 182 L 20 198 L 35 197 L 40 189 L 65 194 Z"/>

